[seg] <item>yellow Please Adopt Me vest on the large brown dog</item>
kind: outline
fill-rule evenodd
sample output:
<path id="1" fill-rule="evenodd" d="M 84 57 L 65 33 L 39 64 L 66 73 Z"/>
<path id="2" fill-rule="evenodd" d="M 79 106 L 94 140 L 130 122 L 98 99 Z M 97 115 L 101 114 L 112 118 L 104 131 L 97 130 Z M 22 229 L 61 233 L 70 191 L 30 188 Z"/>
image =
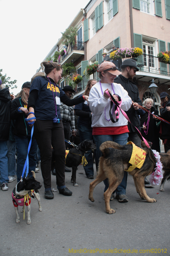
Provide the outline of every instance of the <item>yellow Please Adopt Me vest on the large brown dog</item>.
<path id="1" fill-rule="evenodd" d="M 129 141 L 127 144 L 132 144 L 133 146 L 132 155 L 129 160 L 129 164 L 132 164 L 132 166 L 130 166 L 129 169 L 125 171 L 131 172 L 136 167 L 140 169 L 143 166 L 146 157 L 146 151 L 137 147 L 132 141 Z"/>

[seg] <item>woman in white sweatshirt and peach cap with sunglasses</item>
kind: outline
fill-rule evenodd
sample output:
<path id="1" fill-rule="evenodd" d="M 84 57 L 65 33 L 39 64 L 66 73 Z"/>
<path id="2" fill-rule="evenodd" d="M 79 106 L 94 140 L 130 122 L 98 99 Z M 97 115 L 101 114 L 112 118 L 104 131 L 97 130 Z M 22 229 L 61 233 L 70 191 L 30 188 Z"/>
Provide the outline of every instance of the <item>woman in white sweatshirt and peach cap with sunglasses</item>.
<path id="1" fill-rule="evenodd" d="M 89 107 L 92 112 L 92 135 L 94 143 L 96 144 L 95 150 L 95 163 L 96 170 L 99 164 L 99 158 L 101 156 L 100 145 L 107 141 L 111 140 L 119 143 L 120 145 L 125 145 L 128 139 L 128 121 L 123 116 L 120 111 L 118 122 L 113 123 L 109 116 L 109 111 L 111 108 L 110 97 L 106 94 L 106 91 L 113 95 L 116 101 L 118 101 L 118 96 L 122 100 L 121 108 L 124 111 L 127 111 L 131 105 L 132 100 L 128 96 L 128 92 L 123 89 L 121 84 L 115 84 L 114 80 L 117 75 L 120 75 L 121 72 L 117 70 L 114 63 L 105 61 L 100 64 L 98 67 L 98 76 L 100 81 L 92 86 L 89 94 Z M 115 119 L 115 106 L 111 108 L 111 115 Z M 108 180 L 104 180 L 105 189 L 108 188 Z M 119 202 L 128 202 L 126 196 L 126 185 L 127 185 L 127 172 L 124 172 L 124 177 L 121 184 L 116 188 L 116 198 Z M 110 200 L 113 200 L 111 196 Z"/>

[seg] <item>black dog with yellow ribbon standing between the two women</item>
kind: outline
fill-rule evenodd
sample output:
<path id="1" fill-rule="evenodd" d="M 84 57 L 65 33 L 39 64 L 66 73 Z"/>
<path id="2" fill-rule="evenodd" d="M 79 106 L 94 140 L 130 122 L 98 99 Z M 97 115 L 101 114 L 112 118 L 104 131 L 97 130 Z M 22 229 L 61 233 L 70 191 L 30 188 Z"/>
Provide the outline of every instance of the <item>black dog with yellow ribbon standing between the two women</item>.
<path id="1" fill-rule="evenodd" d="M 76 171 L 79 164 L 81 164 L 82 157 L 85 153 L 90 149 L 96 149 L 96 144 L 92 142 L 92 140 L 84 140 L 80 144 L 78 144 L 77 148 L 70 148 L 69 153 L 67 154 L 65 165 L 67 167 L 72 167 L 72 175 L 71 182 L 73 186 L 78 186 L 76 183 Z M 52 150 L 52 160 L 51 160 L 51 170 L 54 169 L 55 166 L 55 154 L 54 149 Z"/>

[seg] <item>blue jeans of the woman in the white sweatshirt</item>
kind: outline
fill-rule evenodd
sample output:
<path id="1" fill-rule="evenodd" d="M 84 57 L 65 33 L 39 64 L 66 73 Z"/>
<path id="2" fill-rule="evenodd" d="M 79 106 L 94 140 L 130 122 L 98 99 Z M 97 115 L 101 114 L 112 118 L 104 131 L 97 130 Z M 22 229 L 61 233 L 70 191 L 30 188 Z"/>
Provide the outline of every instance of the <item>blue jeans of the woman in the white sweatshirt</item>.
<path id="1" fill-rule="evenodd" d="M 95 161 L 96 161 L 96 170 L 97 170 L 98 164 L 99 164 L 99 158 L 102 154 L 99 149 L 100 145 L 107 140 L 117 142 L 120 145 L 125 145 L 127 144 L 127 140 L 128 140 L 128 132 L 122 133 L 122 134 L 116 134 L 116 135 L 93 135 L 93 138 L 97 147 L 97 149 L 95 150 Z M 128 178 L 128 172 L 124 172 L 122 182 L 115 190 L 116 195 L 122 195 L 122 194 L 126 195 L 127 178 Z M 103 182 L 105 184 L 105 189 L 104 189 L 104 192 L 105 192 L 109 187 L 108 179 L 104 180 Z"/>

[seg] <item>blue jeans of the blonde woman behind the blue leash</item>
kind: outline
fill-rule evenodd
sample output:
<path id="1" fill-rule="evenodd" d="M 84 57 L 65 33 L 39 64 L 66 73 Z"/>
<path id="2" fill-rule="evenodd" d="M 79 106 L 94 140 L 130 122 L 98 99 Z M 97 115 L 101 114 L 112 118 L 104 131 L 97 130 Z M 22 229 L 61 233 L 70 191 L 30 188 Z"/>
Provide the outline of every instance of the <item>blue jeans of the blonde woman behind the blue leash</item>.
<path id="1" fill-rule="evenodd" d="M 17 181 L 21 180 L 21 175 L 23 172 L 24 164 L 26 161 L 26 157 L 28 154 L 28 145 L 31 139 L 31 136 L 26 137 L 18 137 L 14 136 L 17 146 Z M 29 151 L 29 177 L 33 177 L 33 173 L 31 171 L 35 172 L 36 167 L 36 153 L 37 153 L 37 142 L 35 138 L 32 138 L 31 148 Z M 24 173 L 24 177 L 26 175 L 26 172 Z"/>

